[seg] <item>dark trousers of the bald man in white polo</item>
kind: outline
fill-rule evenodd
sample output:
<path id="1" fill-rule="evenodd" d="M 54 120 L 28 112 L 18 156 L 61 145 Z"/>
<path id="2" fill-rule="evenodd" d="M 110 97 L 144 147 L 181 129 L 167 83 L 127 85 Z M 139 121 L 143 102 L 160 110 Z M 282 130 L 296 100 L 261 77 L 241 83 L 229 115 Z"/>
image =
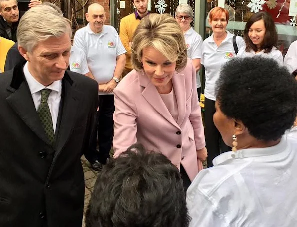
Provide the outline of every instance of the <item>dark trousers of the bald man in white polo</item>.
<path id="1" fill-rule="evenodd" d="M 112 146 L 113 138 L 113 112 L 114 112 L 114 96 L 100 95 L 99 96 L 99 111 L 97 111 L 97 130 L 93 135 L 92 149 L 97 149 L 97 134 L 99 143 L 98 160 L 106 163 L 106 158 L 109 158 L 109 151 Z"/>

